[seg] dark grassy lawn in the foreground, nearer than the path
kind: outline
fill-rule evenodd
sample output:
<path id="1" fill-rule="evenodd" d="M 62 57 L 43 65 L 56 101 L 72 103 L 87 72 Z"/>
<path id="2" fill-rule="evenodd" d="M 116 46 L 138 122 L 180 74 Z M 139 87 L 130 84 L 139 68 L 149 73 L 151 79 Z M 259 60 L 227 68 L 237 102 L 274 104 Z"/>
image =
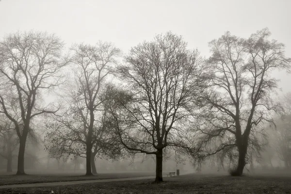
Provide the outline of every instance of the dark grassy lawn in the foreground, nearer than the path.
<path id="1" fill-rule="evenodd" d="M 291 194 L 291 177 L 222 175 L 184 175 L 153 180 L 88 183 L 60 187 L 0 189 L 0 193 L 14 194 Z M 53 193 L 52 193 L 53 192 Z"/>

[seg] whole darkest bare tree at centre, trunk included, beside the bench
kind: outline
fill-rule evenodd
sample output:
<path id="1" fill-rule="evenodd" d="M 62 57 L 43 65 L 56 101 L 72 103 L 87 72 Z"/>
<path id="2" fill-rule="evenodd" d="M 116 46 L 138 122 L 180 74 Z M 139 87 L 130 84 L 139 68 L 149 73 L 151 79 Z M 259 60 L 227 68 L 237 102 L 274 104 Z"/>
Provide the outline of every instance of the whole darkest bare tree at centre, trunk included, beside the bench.
<path id="1" fill-rule="evenodd" d="M 171 32 L 133 47 L 118 75 L 127 91 L 112 90 L 108 106 L 113 128 L 130 153 L 156 156 L 156 182 L 162 181 L 164 148 L 188 148 L 186 129 L 196 114 L 203 86 L 203 60 Z"/>

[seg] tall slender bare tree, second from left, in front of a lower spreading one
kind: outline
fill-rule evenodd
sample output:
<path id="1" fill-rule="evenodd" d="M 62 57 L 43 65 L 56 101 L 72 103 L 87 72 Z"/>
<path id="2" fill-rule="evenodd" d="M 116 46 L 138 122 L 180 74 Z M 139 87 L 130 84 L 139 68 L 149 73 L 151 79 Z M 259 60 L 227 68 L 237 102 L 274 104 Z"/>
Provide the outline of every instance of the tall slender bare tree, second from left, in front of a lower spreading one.
<path id="1" fill-rule="evenodd" d="M 95 46 L 76 44 L 71 50 L 75 86 L 68 93 L 67 103 L 72 104 L 70 111 L 75 113 L 75 118 L 79 118 L 75 120 L 77 123 L 74 125 L 71 125 L 71 120 L 65 127 L 68 134 L 72 135 L 67 137 L 75 138 L 72 140 L 81 143 L 79 147 L 84 145 L 81 150 L 85 149 L 86 175 L 92 175 L 91 163 L 94 162 L 99 149 L 98 146 L 96 149 L 93 146 L 99 138 L 103 138 L 104 133 L 102 126 L 104 110 L 100 96 L 106 79 L 113 73 L 121 51 L 107 42 L 98 42 Z"/>

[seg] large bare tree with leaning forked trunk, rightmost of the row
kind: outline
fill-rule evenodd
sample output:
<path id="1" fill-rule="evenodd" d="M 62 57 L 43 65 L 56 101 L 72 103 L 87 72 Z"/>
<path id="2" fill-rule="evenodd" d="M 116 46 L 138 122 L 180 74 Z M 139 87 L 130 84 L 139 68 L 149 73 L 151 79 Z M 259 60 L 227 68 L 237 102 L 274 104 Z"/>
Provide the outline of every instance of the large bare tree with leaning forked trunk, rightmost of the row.
<path id="1" fill-rule="evenodd" d="M 285 57 L 284 44 L 268 40 L 270 35 L 268 29 L 248 39 L 226 32 L 209 43 L 213 73 L 202 95 L 209 109 L 197 131 L 209 154 L 226 150 L 237 154 L 232 173 L 237 176 L 242 175 L 248 148 L 261 148 L 265 123 L 272 123 L 273 113 L 282 111 L 272 99 L 278 81 L 270 74 L 276 69 L 290 70 L 291 58 Z M 217 140 L 217 146 L 207 146 Z"/>

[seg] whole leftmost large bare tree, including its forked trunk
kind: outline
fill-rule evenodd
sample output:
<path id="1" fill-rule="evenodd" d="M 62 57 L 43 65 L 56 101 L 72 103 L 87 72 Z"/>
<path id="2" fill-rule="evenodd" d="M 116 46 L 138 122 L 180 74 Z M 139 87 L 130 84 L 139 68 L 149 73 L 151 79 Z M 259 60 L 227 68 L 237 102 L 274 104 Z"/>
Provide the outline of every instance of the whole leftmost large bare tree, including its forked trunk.
<path id="1" fill-rule="evenodd" d="M 63 42 L 46 32 L 16 32 L 0 42 L 1 113 L 15 126 L 19 138 L 17 175 L 24 172 L 24 153 L 32 119 L 40 114 L 55 113 L 58 108 L 41 107 L 43 90 L 63 83 L 59 72 L 67 61 L 62 59 Z M 7 90 L 16 95 L 21 122 L 13 117 Z"/>

